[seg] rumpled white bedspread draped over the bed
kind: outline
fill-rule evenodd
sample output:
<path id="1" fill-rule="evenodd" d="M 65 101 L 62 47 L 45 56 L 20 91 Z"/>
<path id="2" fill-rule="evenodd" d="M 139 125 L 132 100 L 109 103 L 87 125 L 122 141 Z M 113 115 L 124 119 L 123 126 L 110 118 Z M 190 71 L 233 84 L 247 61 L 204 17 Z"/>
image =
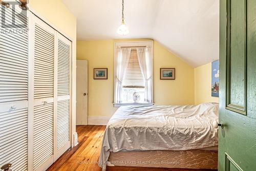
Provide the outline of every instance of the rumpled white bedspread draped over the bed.
<path id="1" fill-rule="evenodd" d="M 219 104 L 122 106 L 106 125 L 99 166 L 110 152 L 188 150 L 218 145 Z"/>

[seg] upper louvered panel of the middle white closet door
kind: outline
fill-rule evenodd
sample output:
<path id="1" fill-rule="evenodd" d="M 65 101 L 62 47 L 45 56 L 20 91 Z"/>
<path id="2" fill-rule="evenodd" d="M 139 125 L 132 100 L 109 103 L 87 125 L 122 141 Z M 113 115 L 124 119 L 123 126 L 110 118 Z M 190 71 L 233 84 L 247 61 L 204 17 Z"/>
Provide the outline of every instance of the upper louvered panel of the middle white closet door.
<path id="1" fill-rule="evenodd" d="M 54 35 L 38 25 L 35 25 L 34 64 L 34 98 L 53 98 Z M 45 87 L 44 91 L 41 87 Z"/>

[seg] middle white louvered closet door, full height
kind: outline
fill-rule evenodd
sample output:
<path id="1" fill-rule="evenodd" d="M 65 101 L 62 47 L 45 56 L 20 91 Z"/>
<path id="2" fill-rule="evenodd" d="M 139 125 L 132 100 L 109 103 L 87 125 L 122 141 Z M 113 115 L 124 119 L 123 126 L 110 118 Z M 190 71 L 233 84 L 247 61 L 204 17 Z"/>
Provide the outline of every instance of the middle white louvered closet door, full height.
<path id="1" fill-rule="evenodd" d="M 55 30 L 33 17 L 33 170 L 46 170 L 54 155 Z"/>

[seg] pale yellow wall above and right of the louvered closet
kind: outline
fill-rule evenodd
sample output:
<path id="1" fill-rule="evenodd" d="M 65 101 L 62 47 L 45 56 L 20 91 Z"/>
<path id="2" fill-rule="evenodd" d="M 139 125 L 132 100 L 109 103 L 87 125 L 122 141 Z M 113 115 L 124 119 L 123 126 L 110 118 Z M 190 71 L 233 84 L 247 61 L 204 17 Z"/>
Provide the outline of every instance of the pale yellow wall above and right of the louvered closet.
<path id="1" fill-rule="evenodd" d="M 72 40 L 72 134 L 76 132 L 76 17 L 61 0 L 30 0 L 29 8 Z M 73 137 L 73 136 L 72 136 Z M 72 141 L 73 143 L 73 141 Z"/>

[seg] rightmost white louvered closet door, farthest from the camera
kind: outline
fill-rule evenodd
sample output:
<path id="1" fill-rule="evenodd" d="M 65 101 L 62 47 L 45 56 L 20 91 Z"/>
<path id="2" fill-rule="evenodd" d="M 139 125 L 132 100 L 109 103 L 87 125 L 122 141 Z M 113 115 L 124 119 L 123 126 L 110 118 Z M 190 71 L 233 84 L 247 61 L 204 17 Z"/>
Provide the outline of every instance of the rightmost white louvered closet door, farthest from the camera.
<path id="1" fill-rule="evenodd" d="M 56 144 L 55 160 L 71 147 L 70 123 L 70 83 L 71 83 L 71 41 L 61 34 L 56 34 L 57 53 L 57 109 L 56 109 Z M 56 71 L 56 70 L 55 70 Z"/>

